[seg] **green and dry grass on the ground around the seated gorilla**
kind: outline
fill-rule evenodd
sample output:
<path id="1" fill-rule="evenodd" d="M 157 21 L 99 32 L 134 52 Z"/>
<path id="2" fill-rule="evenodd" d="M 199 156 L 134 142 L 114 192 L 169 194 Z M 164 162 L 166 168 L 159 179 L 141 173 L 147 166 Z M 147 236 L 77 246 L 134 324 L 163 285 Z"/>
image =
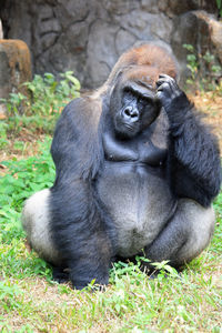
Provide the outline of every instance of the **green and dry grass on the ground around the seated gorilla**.
<path id="1" fill-rule="evenodd" d="M 23 201 L 53 182 L 50 140 L 36 157 L 2 163 L 0 332 L 221 332 L 222 193 L 210 248 L 181 274 L 165 265 L 167 273 L 152 280 L 138 265 L 118 263 L 104 292 L 74 291 L 52 282 L 51 269 L 28 251 L 20 225 Z"/>

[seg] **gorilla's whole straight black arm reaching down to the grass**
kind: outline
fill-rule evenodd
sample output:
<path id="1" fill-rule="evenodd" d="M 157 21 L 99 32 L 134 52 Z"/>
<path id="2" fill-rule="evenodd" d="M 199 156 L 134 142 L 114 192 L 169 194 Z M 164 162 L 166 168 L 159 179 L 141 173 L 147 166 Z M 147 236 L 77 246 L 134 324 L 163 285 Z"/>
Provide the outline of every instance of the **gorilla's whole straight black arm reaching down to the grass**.
<path id="1" fill-rule="evenodd" d="M 99 107 L 84 99 L 67 105 L 51 147 L 57 169 L 50 203 L 52 236 L 65 255 L 64 264 L 77 289 L 84 287 L 93 279 L 95 283 L 107 284 L 111 256 L 107 225 L 104 228 L 92 185 L 100 165 L 100 149 L 97 115 L 90 108 Z"/>

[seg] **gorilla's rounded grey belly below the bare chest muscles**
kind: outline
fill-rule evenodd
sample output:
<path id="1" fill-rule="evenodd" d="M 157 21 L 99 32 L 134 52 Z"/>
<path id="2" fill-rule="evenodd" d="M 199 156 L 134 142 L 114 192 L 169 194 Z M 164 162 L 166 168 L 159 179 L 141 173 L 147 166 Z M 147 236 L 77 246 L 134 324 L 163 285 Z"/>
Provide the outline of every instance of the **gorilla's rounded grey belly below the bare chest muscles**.
<path id="1" fill-rule="evenodd" d="M 142 164 L 107 161 L 97 191 L 115 225 L 118 254 L 122 256 L 134 255 L 150 244 L 173 212 L 167 182 Z"/>

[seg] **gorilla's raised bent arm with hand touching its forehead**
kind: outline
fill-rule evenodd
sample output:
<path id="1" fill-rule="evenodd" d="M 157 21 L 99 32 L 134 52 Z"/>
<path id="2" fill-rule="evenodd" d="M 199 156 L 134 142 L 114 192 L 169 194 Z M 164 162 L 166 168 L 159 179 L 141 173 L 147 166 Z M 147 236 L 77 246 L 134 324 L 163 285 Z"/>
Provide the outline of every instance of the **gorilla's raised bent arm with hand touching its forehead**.
<path id="1" fill-rule="evenodd" d="M 170 122 L 168 172 L 172 191 L 209 206 L 221 183 L 216 140 L 172 78 L 160 75 L 157 84 Z"/>

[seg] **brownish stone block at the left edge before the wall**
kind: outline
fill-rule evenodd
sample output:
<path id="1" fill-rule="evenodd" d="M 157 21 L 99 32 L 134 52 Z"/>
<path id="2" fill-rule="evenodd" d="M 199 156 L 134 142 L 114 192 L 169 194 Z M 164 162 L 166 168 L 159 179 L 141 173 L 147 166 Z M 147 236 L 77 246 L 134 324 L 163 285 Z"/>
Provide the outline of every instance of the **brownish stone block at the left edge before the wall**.
<path id="1" fill-rule="evenodd" d="M 31 80 L 31 58 L 28 46 L 21 40 L 0 40 L 0 98 L 10 92 L 27 94 L 21 85 Z M 1 111 L 4 107 L 1 105 Z"/>

